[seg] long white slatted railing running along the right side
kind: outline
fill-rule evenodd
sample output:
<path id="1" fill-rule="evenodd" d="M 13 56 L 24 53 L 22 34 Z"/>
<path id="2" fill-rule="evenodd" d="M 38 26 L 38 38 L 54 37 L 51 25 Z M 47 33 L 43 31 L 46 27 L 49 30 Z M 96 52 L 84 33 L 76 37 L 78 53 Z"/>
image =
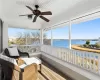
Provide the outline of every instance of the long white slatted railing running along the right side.
<path id="1" fill-rule="evenodd" d="M 100 75 L 100 54 L 42 45 L 41 51 Z"/>

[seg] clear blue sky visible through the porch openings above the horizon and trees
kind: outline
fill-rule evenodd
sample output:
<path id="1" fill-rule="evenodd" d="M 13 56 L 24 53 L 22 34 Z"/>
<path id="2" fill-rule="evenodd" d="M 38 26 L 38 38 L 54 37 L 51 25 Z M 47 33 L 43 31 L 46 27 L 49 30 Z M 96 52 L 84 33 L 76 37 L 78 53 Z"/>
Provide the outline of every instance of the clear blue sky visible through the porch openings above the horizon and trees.
<path id="1" fill-rule="evenodd" d="M 16 37 L 19 32 L 24 32 L 24 29 L 9 28 L 8 35 Z M 33 30 L 28 30 L 33 31 Z M 68 39 L 69 27 L 62 26 L 52 30 L 53 39 Z M 51 38 L 51 31 L 45 32 L 47 38 Z M 82 22 L 79 24 L 72 24 L 71 38 L 72 39 L 98 39 L 100 37 L 100 18 Z"/>

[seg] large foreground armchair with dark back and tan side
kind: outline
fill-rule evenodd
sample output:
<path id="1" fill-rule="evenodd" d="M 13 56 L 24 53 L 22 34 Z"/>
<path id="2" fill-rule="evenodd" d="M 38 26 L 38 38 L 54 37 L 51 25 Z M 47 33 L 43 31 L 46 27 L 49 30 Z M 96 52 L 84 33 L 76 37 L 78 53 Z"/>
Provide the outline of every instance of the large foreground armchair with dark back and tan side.
<path id="1" fill-rule="evenodd" d="M 4 73 L 2 80 L 37 80 L 35 63 L 18 66 L 15 59 L 0 54 L 0 64 Z"/>

